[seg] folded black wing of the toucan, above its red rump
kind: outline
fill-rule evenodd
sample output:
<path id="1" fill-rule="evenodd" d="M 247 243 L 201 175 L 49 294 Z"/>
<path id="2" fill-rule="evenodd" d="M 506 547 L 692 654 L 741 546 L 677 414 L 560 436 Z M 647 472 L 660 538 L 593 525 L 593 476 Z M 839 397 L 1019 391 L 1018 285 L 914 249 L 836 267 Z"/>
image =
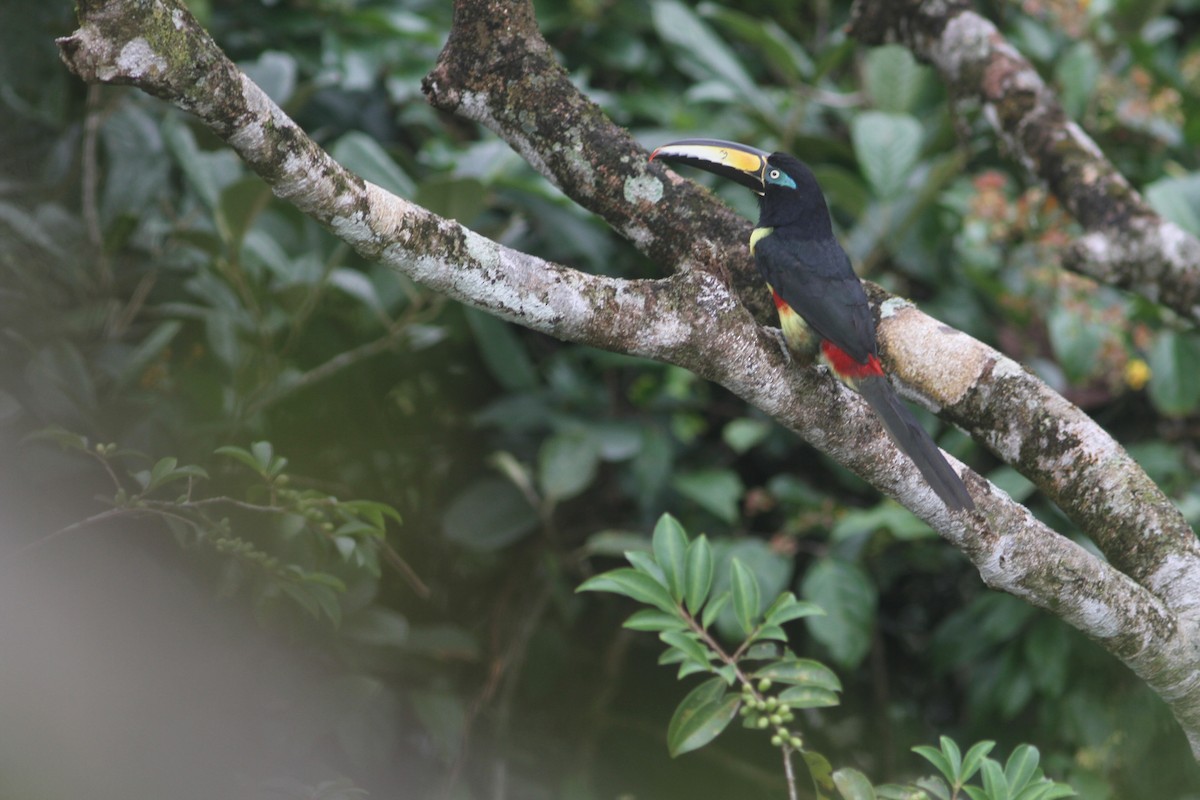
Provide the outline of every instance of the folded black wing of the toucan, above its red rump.
<path id="1" fill-rule="evenodd" d="M 754 255 L 763 278 L 817 336 L 859 363 L 877 355 L 866 293 L 836 239 L 776 231 L 755 243 Z"/>

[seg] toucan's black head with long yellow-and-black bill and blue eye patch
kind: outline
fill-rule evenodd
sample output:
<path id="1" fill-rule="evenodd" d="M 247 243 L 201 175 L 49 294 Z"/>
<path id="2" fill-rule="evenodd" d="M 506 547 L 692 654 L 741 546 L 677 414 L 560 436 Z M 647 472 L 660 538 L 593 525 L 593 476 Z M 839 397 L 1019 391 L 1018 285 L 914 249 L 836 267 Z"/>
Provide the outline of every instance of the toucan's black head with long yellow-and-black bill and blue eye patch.
<path id="1" fill-rule="evenodd" d="M 682 139 L 658 148 L 650 161 L 688 164 L 745 186 L 761 198 L 761 227 L 800 225 L 822 235 L 832 227 L 812 170 L 786 152 L 721 139 Z"/>

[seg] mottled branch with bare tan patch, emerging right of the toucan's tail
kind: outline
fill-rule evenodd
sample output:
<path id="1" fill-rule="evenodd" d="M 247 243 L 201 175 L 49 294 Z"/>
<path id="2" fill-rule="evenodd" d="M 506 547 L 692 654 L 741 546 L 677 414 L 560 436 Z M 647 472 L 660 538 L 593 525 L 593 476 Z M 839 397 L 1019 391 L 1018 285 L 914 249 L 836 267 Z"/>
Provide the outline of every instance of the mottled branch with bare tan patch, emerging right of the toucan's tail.
<path id="1" fill-rule="evenodd" d="M 1200 631 L 1200 543 L 1187 518 L 1087 414 L 992 348 L 869 285 L 883 356 L 917 402 L 941 407 L 1034 482 L 1109 561 Z M 1200 633 L 1198 633 L 1200 636 Z"/>

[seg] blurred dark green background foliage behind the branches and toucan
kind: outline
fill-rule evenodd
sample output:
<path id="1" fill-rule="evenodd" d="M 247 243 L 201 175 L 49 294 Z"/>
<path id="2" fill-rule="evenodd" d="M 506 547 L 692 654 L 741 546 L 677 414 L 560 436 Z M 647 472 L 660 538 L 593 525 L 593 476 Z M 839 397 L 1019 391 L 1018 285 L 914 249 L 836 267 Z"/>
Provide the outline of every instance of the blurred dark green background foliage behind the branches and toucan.
<path id="1" fill-rule="evenodd" d="M 427 107 L 420 79 L 450 4 L 191 5 L 368 179 L 523 251 L 658 276 L 505 145 Z M 848 2 L 536 7 L 576 84 L 643 143 L 710 136 L 803 155 L 864 276 L 1036 371 L 1200 519 L 1196 333 L 1064 275 L 1068 215 L 982 119 L 952 113 L 928 67 L 847 41 Z M 1200 233 L 1194 4 L 986 11 L 1150 201 Z M 410 796 L 487 795 L 500 763 L 523 796 L 744 795 L 746 781 L 779 794 L 776 751 L 760 738 L 731 730 L 703 765 L 665 765 L 646 747 L 676 705 L 655 656 L 612 633 L 612 603 L 571 591 L 625 551 L 703 575 L 689 553 L 679 573 L 678 553 L 638 533 L 662 511 L 708 531 L 707 602 L 698 584 L 691 597 L 686 582 L 676 589 L 702 616 L 730 597 L 700 620 L 714 642 L 744 640 L 787 591 L 826 610 L 787 633 L 842 675 L 838 721 L 796 715 L 804 746 L 830 760 L 902 782 L 908 748 L 948 733 L 995 739 L 1008 764 L 1031 760 L 1018 745 L 1032 741 L 1039 763 L 1099 800 L 1181 796 L 1200 780 L 1123 668 L 988 593 L 907 511 L 758 411 L 683 371 L 533 336 L 361 263 L 185 115 L 71 79 L 52 41 L 71 26 L 65 1 L 0 8 L 0 438 L 20 464 L 6 497 L 56 494 L 52 511 L 4 505 L 0 555 L 70 548 L 91 530 L 72 525 L 100 515 L 140 547 L 174 535 L 192 573 L 328 660 L 343 716 L 314 736 L 335 744 L 314 747 L 325 771 L 306 787 L 353 796 L 338 778 L 401 751 L 420 765 Z M 744 192 L 715 188 L 754 213 Z M 924 421 L 1072 533 L 1013 470 Z M 95 470 L 82 479 L 44 441 L 19 444 L 35 431 L 56 431 L 41 438 Z M 54 547 L 36 545 L 59 530 Z M 678 668 L 701 669 L 686 656 L 707 646 L 700 633 L 664 632 Z M 713 680 L 695 705 L 710 708 L 714 687 L 742 703 Z M 680 742 L 708 733 L 679 734 L 697 718 L 676 727 Z"/>

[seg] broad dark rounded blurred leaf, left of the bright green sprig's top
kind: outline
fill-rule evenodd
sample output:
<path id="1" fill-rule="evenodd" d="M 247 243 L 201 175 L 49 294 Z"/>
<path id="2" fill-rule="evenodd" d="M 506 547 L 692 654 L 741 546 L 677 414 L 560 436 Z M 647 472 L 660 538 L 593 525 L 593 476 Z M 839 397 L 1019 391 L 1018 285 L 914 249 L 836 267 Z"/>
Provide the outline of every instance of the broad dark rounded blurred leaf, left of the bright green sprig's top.
<path id="1" fill-rule="evenodd" d="M 442 518 L 446 539 L 480 552 L 508 547 L 533 533 L 538 515 L 508 481 L 485 477 L 450 501 Z"/>

